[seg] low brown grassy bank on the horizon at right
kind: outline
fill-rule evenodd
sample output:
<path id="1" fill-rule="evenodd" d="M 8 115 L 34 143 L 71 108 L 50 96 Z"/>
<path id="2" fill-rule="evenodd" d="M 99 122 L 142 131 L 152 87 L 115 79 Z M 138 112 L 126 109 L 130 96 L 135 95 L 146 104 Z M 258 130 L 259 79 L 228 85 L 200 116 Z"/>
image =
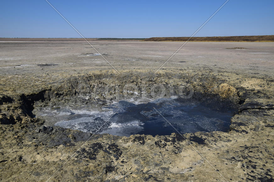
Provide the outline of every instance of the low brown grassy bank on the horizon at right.
<path id="1" fill-rule="evenodd" d="M 143 41 L 187 41 L 189 37 L 152 37 Z M 227 37 L 192 37 L 189 41 L 197 42 L 274 42 L 274 35 L 227 36 Z"/>

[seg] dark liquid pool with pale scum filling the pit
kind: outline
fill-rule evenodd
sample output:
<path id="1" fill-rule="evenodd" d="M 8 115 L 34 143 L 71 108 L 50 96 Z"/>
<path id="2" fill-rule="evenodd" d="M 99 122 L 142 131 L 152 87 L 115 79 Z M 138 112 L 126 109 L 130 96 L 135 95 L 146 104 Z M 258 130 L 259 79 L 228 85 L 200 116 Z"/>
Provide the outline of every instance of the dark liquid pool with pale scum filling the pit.
<path id="1" fill-rule="evenodd" d="M 92 110 L 87 106 L 82 109 L 46 107 L 36 114 L 54 120 L 55 126 L 92 133 L 155 136 L 176 132 L 157 111 L 181 133 L 228 131 L 234 115 L 234 110 L 215 110 L 208 104 L 178 98 L 155 99 L 146 103 L 120 100 Z"/>

